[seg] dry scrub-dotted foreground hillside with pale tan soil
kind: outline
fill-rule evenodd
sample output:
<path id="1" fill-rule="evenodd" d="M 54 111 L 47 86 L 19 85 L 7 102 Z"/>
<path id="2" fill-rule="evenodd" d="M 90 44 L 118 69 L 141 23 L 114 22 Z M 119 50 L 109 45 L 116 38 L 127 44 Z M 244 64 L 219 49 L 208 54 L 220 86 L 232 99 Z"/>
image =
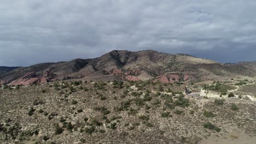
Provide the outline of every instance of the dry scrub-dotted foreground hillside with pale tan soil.
<path id="1" fill-rule="evenodd" d="M 256 103 L 235 97 L 251 86 L 245 81 L 254 82 L 2 85 L 0 143 L 251 144 L 256 140 Z M 185 85 L 193 93 L 184 96 Z M 202 89 L 235 96 L 199 96 Z"/>

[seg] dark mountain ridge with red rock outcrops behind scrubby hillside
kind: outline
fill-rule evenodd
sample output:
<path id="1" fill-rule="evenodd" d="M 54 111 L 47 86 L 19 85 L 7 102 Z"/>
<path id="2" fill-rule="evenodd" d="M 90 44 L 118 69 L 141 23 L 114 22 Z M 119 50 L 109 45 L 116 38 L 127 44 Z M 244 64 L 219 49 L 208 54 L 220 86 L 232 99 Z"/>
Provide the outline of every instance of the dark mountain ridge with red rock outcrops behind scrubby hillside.
<path id="1" fill-rule="evenodd" d="M 68 79 L 196 82 L 230 77 L 254 77 L 256 64 L 252 63 L 223 64 L 185 54 L 173 55 L 153 50 L 114 50 L 94 59 L 42 63 L 7 70 L 0 73 L 0 83 L 28 85 Z"/>

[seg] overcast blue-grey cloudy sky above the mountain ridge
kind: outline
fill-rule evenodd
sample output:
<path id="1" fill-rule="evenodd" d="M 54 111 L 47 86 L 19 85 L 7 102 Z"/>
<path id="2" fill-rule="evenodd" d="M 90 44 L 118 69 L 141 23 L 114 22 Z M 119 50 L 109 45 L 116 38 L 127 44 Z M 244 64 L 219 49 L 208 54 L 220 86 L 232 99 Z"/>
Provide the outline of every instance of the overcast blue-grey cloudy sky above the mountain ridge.
<path id="1" fill-rule="evenodd" d="M 153 49 L 256 61 L 253 0 L 0 0 L 0 65 Z"/>

